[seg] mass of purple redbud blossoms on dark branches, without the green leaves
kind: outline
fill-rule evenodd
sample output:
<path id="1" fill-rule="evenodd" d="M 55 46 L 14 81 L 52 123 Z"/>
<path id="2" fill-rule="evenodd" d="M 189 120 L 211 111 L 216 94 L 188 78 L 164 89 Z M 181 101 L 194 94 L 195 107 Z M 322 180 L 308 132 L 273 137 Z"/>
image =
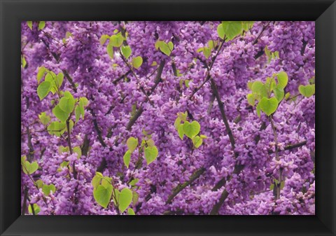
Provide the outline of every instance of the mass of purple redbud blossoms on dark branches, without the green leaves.
<path id="1" fill-rule="evenodd" d="M 94 199 L 97 172 L 113 188 L 132 189 L 130 208 L 139 215 L 315 214 L 315 96 L 298 89 L 315 81 L 314 22 L 253 22 L 230 41 L 218 36 L 219 24 L 45 22 L 40 29 L 22 22 L 21 153 L 38 163 L 34 174 L 22 171 L 22 214 L 36 214 L 34 207 L 43 215 L 120 214 Z M 132 49 L 127 60 L 118 48 L 111 57 L 101 40 L 118 33 Z M 173 43 L 170 55 L 157 41 Z M 209 41 L 207 56 L 199 49 Z M 130 67 L 135 57 L 139 68 Z M 59 99 L 38 97 L 41 67 L 64 74 L 62 91 L 88 100 L 69 136 L 41 123 L 43 112 L 57 120 Z M 288 74 L 288 96 L 272 114 L 273 128 L 246 95 L 249 82 L 279 71 Z M 198 148 L 174 127 L 184 112 L 206 136 Z M 158 157 L 148 165 L 137 149 L 126 167 L 127 139 L 140 143 L 144 130 Z M 60 151 L 69 143 L 80 153 Z M 46 194 L 38 181 L 55 190 Z"/>

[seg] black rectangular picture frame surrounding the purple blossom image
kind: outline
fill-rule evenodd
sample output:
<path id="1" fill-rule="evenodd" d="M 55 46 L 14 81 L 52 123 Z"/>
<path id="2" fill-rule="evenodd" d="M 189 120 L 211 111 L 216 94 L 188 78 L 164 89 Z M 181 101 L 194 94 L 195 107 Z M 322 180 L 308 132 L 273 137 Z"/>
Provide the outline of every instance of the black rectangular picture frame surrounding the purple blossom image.
<path id="1" fill-rule="evenodd" d="M 336 3 L 332 0 L 0 0 L 1 235 L 336 235 Z M 22 20 L 314 20 L 315 216 L 20 216 Z"/>

